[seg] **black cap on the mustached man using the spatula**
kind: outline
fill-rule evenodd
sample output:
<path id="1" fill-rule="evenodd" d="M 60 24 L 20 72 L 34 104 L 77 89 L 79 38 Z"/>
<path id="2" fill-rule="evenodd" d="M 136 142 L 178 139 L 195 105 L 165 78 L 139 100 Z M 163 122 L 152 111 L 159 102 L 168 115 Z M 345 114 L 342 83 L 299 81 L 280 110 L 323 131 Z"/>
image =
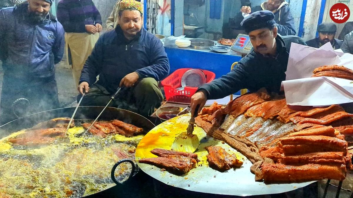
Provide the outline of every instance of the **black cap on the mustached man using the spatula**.
<path id="1" fill-rule="evenodd" d="M 249 33 L 254 30 L 271 27 L 276 24 L 275 15 L 268 10 L 257 11 L 251 13 L 241 21 L 240 25 Z"/>

